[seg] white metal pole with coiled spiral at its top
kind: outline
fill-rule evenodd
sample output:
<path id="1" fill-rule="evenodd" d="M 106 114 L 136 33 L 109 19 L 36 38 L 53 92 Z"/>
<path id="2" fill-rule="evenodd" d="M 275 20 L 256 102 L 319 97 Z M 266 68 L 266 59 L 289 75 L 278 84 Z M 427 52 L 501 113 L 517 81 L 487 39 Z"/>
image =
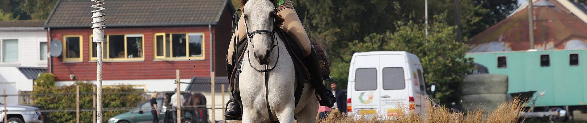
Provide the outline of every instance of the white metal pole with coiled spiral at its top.
<path id="1" fill-rule="evenodd" d="M 97 67 L 97 96 L 96 96 L 96 122 L 102 122 L 102 43 L 104 40 L 104 13 L 102 12 L 105 8 L 101 7 L 104 5 L 103 0 L 92 0 L 97 4 L 92 5 L 92 29 L 94 34 L 93 43 L 96 43 L 96 67 Z"/>

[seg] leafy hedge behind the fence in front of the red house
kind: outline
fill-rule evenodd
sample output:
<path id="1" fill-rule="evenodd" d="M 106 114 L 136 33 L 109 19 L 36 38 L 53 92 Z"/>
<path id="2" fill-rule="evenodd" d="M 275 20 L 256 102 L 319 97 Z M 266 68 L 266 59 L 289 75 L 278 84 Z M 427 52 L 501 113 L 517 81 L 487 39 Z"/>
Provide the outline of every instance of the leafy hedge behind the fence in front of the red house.
<path id="1" fill-rule="evenodd" d="M 51 73 L 43 73 L 35 80 L 32 94 L 55 93 L 56 95 L 49 96 L 33 96 L 33 104 L 43 106 L 46 110 L 75 110 L 76 109 L 76 95 L 64 93 L 76 93 L 76 86 L 79 86 L 80 93 L 91 93 L 92 83 L 76 82 L 75 85 L 70 86 L 55 86 L 55 76 Z M 134 90 L 130 85 L 118 85 L 103 89 L 104 93 L 114 92 L 140 92 Z M 103 94 L 103 108 L 118 108 L 118 107 L 135 107 L 143 101 L 140 94 Z M 93 97 L 92 94 L 80 94 L 80 109 L 92 109 Z M 107 122 L 109 117 L 116 114 L 121 114 L 126 111 L 103 111 L 103 122 Z M 75 122 L 75 111 L 59 111 L 46 113 L 52 122 Z M 91 111 L 80 112 L 80 122 L 92 122 Z"/>

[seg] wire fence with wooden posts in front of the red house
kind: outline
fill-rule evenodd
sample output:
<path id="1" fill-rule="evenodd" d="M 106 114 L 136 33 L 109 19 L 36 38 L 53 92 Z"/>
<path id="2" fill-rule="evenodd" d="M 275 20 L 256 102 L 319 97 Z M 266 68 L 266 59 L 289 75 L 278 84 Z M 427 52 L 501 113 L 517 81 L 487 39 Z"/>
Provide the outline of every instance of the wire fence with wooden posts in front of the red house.
<path id="1" fill-rule="evenodd" d="M 193 83 L 190 83 L 193 84 Z M 208 85 L 210 85 L 208 83 Z M 230 93 L 228 95 L 226 95 L 226 93 L 224 92 L 225 85 L 222 85 L 222 90 L 221 90 L 221 94 L 217 92 L 216 96 L 222 96 L 222 102 L 227 101 L 224 100 L 225 97 L 230 97 Z M 78 86 L 79 87 L 79 86 Z M 139 101 L 136 105 L 133 105 L 133 107 L 103 107 L 102 111 L 144 111 L 147 112 L 149 110 L 153 111 L 155 110 L 154 108 L 148 109 L 148 108 L 143 108 L 143 106 L 141 104 L 148 104 L 149 103 L 149 99 L 151 94 L 153 94 L 155 92 L 104 92 L 102 93 L 102 96 L 105 97 L 109 94 L 137 94 L 139 95 L 139 97 L 141 97 L 142 101 Z M 163 95 L 163 96 L 157 96 L 158 99 L 157 101 L 161 100 L 163 102 L 160 101 L 160 105 L 161 107 L 158 107 L 157 110 L 160 110 L 161 112 L 167 112 L 167 111 L 176 111 L 177 107 L 175 106 L 170 106 L 171 105 L 171 101 L 170 97 L 171 95 L 175 94 L 175 91 L 166 91 L 166 92 L 157 92 L 159 93 L 159 95 Z M 181 91 L 182 95 L 189 95 L 189 94 L 195 94 L 195 93 L 211 93 L 210 91 L 206 92 L 206 91 Z M 76 91 L 76 93 L 32 93 L 32 92 L 27 92 L 27 91 L 20 91 L 18 92 L 18 94 L 6 94 L 6 92 L 4 92 L 3 94 L 0 94 L 0 98 L 4 97 L 4 100 L 0 99 L 0 102 L 2 102 L 2 104 L 4 104 L 4 106 L 7 105 L 11 105 L 10 103 L 8 103 L 6 101 L 6 97 L 14 97 L 14 96 L 18 96 L 18 104 L 19 105 L 24 105 L 24 106 L 33 106 L 33 107 L 37 107 L 39 108 L 39 110 L 35 110 L 33 108 L 27 108 L 26 110 L 22 110 L 22 109 L 18 109 L 18 110 L 13 110 L 10 108 L 10 106 L 8 106 L 8 108 L 4 108 L 4 107 L 0 107 L 2 108 L 2 110 L 0 110 L 0 114 L 2 115 L 1 117 L 5 117 L 7 114 L 14 114 L 14 113 L 28 113 L 28 112 L 32 112 L 32 113 L 36 113 L 38 115 L 41 115 L 43 113 L 54 113 L 54 112 L 76 112 L 77 117 L 79 118 L 79 114 L 82 112 L 93 112 L 96 113 L 96 92 L 79 92 Z M 76 105 L 75 106 L 62 106 L 62 107 L 69 107 L 69 108 L 61 108 L 61 109 L 46 109 L 44 106 L 38 106 L 36 105 L 35 102 L 35 97 L 39 97 L 39 96 L 75 96 L 76 97 Z M 81 108 L 80 106 L 80 97 L 82 96 L 87 96 L 87 95 L 92 95 L 93 99 L 92 102 L 93 103 L 93 108 Z M 188 97 L 185 97 L 186 101 L 187 101 Z M 221 111 L 221 113 L 224 113 L 224 103 L 220 103 L 217 104 L 215 102 L 210 102 L 210 98 L 217 98 L 217 97 L 205 97 L 208 98 L 208 102 L 205 105 L 198 105 L 198 106 L 181 106 L 181 110 L 185 111 L 185 110 L 201 110 L 201 109 L 205 109 L 208 110 L 208 112 L 210 112 L 212 110 L 212 107 L 215 108 L 215 111 Z M 220 100 L 217 100 L 220 101 Z M 89 102 L 83 102 L 83 103 L 89 103 Z M 86 104 L 87 105 L 87 104 Z M 87 106 L 86 106 L 87 107 Z M 13 112 L 14 111 L 14 112 Z M 8 112 L 8 113 L 6 113 Z M 212 111 L 212 113 L 214 113 Z M 46 116 L 45 116 L 46 117 Z M 95 117 L 95 115 L 93 115 L 92 117 Z M 213 118 L 215 119 L 215 118 Z"/>

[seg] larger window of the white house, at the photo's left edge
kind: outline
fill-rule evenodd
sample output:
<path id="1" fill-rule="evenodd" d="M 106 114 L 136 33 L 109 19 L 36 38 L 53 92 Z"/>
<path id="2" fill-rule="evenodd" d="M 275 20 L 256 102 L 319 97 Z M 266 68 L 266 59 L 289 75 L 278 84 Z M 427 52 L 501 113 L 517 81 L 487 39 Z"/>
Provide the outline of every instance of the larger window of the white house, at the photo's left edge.
<path id="1" fill-rule="evenodd" d="M 18 62 L 18 40 L 0 40 L 2 62 Z"/>

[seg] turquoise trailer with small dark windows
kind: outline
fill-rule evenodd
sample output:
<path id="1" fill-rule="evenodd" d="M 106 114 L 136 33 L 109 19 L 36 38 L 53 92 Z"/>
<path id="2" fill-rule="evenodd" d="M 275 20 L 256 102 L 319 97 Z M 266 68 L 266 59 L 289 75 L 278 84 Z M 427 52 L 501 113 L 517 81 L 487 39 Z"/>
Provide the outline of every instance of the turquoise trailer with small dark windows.
<path id="1" fill-rule="evenodd" d="M 536 107 L 587 110 L 587 50 L 471 52 L 466 57 L 487 66 L 489 73 L 508 75 L 508 93 L 545 92 Z"/>

